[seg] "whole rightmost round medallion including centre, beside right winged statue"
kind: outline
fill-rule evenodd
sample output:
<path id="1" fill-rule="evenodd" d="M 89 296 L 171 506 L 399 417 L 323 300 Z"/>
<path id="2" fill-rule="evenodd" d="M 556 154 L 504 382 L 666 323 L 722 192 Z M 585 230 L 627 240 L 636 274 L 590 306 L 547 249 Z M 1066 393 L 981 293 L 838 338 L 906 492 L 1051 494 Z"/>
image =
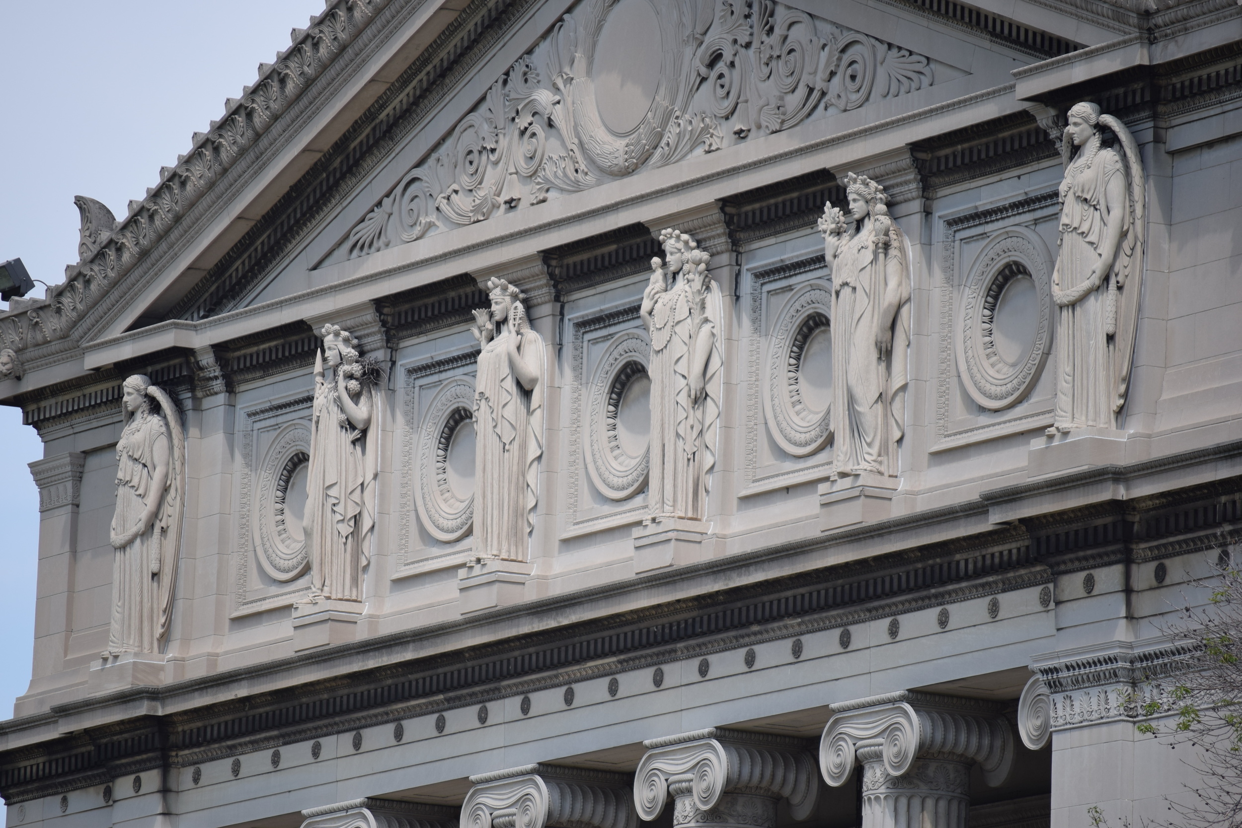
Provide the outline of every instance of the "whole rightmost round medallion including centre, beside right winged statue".
<path id="1" fill-rule="evenodd" d="M 976 257 L 963 286 L 954 340 L 970 397 L 1001 411 L 1020 402 L 1052 350 L 1052 282 L 1038 236 L 1005 230 Z"/>

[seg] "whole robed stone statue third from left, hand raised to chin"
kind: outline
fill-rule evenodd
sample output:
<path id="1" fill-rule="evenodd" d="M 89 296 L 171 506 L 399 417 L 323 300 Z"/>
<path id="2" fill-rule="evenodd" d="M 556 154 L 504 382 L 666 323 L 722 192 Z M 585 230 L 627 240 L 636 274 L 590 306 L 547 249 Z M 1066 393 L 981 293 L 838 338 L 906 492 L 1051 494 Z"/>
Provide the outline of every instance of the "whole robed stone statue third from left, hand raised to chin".
<path id="1" fill-rule="evenodd" d="M 474 312 L 474 554 L 525 561 L 543 456 L 544 341 L 525 298 L 504 279 L 487 283 L 492 307 Z"/>

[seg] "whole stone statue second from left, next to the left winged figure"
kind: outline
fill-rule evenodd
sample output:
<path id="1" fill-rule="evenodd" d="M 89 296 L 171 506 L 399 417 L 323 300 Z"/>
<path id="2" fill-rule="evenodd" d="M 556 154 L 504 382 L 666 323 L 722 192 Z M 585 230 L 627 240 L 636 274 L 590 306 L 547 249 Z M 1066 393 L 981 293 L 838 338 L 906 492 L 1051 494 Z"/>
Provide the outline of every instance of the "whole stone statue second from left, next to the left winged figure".
<path id="1" fill-rule="evenodd" d="M 363 600 L 363 571 L 375 529 L 379 428 L 375 386 L 380 367 L 358 340 L 324 325 L 314 358 L 310 464 L 303 518 L 310 557 L 310 601 Z M 324 370 L 332 371 L 330 379 Z"/>

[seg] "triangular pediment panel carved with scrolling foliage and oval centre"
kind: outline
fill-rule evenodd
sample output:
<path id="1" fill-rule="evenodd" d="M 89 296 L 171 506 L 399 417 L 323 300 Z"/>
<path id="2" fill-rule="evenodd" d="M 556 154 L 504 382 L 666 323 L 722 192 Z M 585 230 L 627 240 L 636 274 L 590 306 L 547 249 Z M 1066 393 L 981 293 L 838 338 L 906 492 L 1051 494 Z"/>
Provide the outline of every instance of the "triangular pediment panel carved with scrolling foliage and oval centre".
<path id="1" fill-rule="evenodd" d="M 940 70 L 955 72 L 773 0 L 584 0 L 333 258 L 907 94 Z"/>

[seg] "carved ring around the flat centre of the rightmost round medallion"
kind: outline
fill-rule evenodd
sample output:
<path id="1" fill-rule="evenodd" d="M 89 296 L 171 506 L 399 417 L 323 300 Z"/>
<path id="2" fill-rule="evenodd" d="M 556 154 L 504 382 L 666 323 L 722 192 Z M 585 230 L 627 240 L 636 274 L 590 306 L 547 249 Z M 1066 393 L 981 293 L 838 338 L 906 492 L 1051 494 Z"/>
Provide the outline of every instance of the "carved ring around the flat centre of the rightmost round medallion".
<path id="1" fill-rule="evenodd" d="M 961 290 L 954 346 L 958 370 L 970 397 L 984 408 L 1001 411 L 1020 402 L 1040 379 L 1052 351 L 1052 279 L 1043 240 L 1009 227 L 987 240 Z M 1030 350 L 1007 362 L 995 343 L 996 312 L 1005 289 L 1030 278 L 1038 297 L 1038 322 Z"/>

